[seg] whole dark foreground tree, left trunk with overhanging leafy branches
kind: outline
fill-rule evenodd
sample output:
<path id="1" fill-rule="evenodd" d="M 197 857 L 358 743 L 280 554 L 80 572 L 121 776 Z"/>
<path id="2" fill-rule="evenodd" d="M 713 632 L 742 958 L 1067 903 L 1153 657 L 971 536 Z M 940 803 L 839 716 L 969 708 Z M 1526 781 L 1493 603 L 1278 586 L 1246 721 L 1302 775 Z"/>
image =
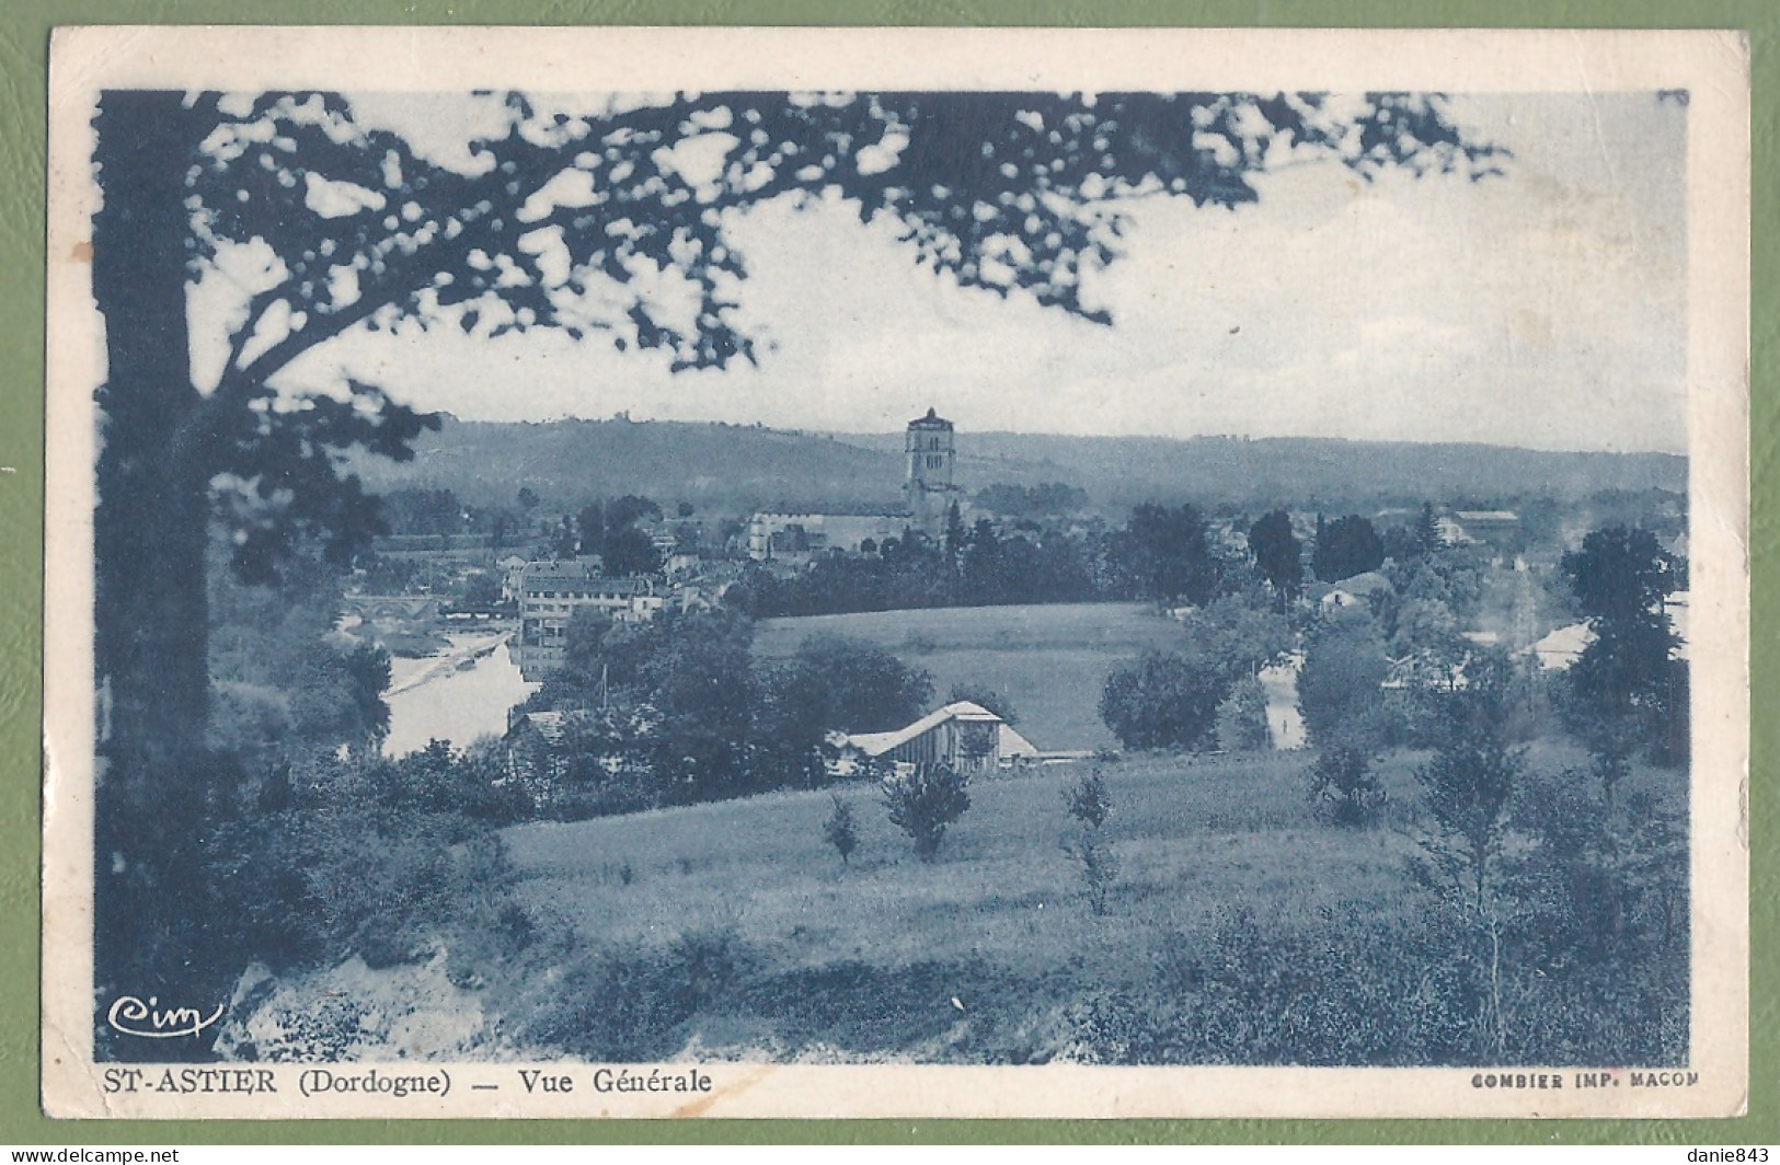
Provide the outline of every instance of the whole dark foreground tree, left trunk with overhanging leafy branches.
<path id="1" fill-rule="evenodd" d="M 812 196 L 894 221 L 911 258 L 959 286 L 1105 322 L 1082 276 L 1116 258 L 1121 199 L 1235 206 L 1287 158 L 1367 178 L 1481 176 L 1495 155 L 1463 141 L 1438 98 L 1404 94 L 1340 112 L 1317 94 L 475 100 L 498 128 L 447 164 L 338 94 L 100 98 L 96 815 L 98 852 L 114 856 L 100 863 L 101 984 L 107 950 L 132 952 L 134 992 L 160 985 L 148 968 L 169 985 L 194 975 L 194 936 L 155 904 L 199 877 L 190 822 L 222 811 L 231 779 L 201 747 L 212 521 L 249 578 L 301 539 L 345 560 L 379 526 L 344 452 L 404 457 L 434 423 L 370 384 L 281 393 L 279 374 L 306 354 L 356 331 L 550 327 L 662 352 L 675 370 L 755 359 L 733 317 L 748 269 L 726 212 Z M 682 146 L 716 165 L 689 164 Z M 242 256 L 262 270 L 228 320 L 215 382 L 201 384 L 187 292 Z"/>

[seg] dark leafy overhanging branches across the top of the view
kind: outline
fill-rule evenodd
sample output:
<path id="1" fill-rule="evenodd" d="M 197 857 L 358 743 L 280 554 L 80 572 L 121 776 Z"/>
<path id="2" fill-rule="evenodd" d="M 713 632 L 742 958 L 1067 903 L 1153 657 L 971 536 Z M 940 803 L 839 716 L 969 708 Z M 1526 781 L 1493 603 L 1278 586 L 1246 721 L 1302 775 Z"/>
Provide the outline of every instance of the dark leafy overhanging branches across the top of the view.
<path id="1" fill-rule="evenodd" d="M 605 112 L 488 100 L 504 125 L 454 169 L 365 128 L 333 94 L 265 94 L 246 108 L 203 94 L 187 114 L 208 126 L 189 178 L 194 235 L 206 249 L 279 242 L 288 272 L 256 308 L 281 301 L 306 317 L 288 347 L 409 315 L 490 334 L 609 331 L 621 347 L 708 366 L 753 356 L 730 315 L 746 274 L 724 235 L 730 206 L 833 189 L 862 221 L 897 219 L 917 258 L 963 286 L 1025 288 L 1096 317 L 1080 276 L 1116 254 L 1111 205 L 1123 194 L 1255 201 L 1250 176 L 1276 142 L 1367 176 L 1404 165 L 1481 174 L 1493 155 L 1463 142 L 1438 100 L 1404 94 L 1374 94 L 1351 121 L 1314 94 L 707 92 Z M 714 180 L 676 164 L 682 142 L 723 149 Z M 876 165 L 872 151 L 895 164 Z M 335 194 L 326 206 L 290 194 L 317 183 Z M 685 203 L 710 213 L 682 213 Z M 557 240 L 566 277 L 539 237 Z M 694 327 L 632 285 L 643 265 L 691 285 Z M 349 302 L 331 281 L 340 269 L 360 272 Z M 593 292 L 616 297 L 596 308 Z M 263 375 L 283 359 L 274 345 L 239 366 Z"/>

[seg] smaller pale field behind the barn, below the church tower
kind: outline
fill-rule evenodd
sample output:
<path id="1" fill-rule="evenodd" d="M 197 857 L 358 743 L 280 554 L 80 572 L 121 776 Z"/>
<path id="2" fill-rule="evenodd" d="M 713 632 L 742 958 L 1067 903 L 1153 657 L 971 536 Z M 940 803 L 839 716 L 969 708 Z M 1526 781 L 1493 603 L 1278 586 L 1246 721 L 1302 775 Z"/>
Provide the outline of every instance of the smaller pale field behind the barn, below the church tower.
<path id="1" fill-rule="evenodd" d="M 1116 740 L 1100 722 L 1107 676 L 1145 647 L 1182 642 L 1180 628 L 1143 603 L 1072 603 L 765 619 L 755 651 L 787 656 L 819 633 L 894 651 L 933 676 L 936 701 L 954 683 L 995 688 L 1013 703 L 1027 740 L 1059 751 L 1112 747 Z"/>

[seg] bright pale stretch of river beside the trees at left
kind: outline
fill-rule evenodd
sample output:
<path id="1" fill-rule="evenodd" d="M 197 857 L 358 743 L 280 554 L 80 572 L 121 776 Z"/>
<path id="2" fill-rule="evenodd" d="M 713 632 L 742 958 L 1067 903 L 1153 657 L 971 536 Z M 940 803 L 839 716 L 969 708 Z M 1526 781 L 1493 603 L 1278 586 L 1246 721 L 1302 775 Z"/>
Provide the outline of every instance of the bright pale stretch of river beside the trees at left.
<path id="1" fill-rule="evenodd" d="M 511 631 L 457 631 L 424 660 L 392 660 L 390 735 L 384 756 L 404 756 L 445 740 L 463 749 L 479 736 L 507 731 L 507 708 L 538 690 L 520 679 L 507 649 Z"/>

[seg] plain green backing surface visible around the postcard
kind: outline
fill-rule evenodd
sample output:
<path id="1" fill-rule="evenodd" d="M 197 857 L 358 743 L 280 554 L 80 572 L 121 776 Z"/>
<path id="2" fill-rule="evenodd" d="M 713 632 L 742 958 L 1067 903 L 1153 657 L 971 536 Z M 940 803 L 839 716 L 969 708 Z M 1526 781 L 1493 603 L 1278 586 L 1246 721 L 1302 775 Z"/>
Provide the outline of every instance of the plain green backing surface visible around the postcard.
<path id="1" fill-rule="evenodd" d="M 1753 633 L 1750 1115 L 1736 1121 L 48 1121 L 37 1105 L 37 934 L 43 614 L 44 91 L 53 25 L 1230 25 L 1744 28 L 1753 53 Z M 1768 779 L 1780 719 L 1764 715 L 1780 649 L 1775 388 L 1780 301 L 1780 4 L 1773 0 L 1205 0 L 1200 4 L 977 0 L 7 0 L 0 5 L 0 1144 L 342 1142 L 1780 1142 L 1780 813 Z M 1531 78 L 1529 78 L 1531 80 Z M 1677 1154 L 1677 1160 L 1679 1154 Z"/>

